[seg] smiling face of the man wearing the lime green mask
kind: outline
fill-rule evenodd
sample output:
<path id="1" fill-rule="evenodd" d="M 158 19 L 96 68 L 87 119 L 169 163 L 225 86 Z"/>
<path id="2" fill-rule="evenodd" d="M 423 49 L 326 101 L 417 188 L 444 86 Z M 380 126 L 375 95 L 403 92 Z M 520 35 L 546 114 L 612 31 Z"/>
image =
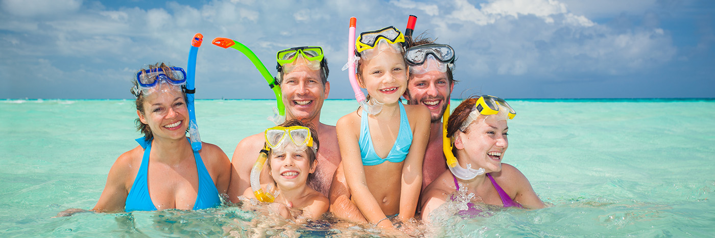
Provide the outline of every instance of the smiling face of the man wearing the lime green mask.
<path id="1" fill-rule="evenodd" d="M 287 120 L 320 118 L 322 103 L 330 93 L 330 82 L 323 85 L 320 73 L 320 69 L 300 65 L 282 76 L 280 89 Z"/>

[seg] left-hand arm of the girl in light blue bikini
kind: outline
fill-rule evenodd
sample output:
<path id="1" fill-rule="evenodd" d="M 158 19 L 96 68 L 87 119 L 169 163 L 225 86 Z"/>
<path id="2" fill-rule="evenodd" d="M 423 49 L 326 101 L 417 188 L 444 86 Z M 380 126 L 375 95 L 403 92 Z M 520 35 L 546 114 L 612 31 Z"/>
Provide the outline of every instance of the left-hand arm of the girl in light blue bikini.
<path id="1" fill-rule="evenodd" d="M 368 189 L 368 182 L 365 180 L 365 169 L 363 168 L 363 159 L 360 157 L 360 145 L 358 145 L 360 118 L 348 114 L 337 120 L 335 126 L 345 180 L 350 187 L 352 200 L 355 201 L 355 205 L 358 206 L 360 212 L 363 212 L 365 219 L 370 224 L 378 222 L 376 225 L 380 228 L 393 229 L 390 220 L 384 219 L 387 217 L 378 205 L 378 201 L 375 201 L 373 193 Z"/>

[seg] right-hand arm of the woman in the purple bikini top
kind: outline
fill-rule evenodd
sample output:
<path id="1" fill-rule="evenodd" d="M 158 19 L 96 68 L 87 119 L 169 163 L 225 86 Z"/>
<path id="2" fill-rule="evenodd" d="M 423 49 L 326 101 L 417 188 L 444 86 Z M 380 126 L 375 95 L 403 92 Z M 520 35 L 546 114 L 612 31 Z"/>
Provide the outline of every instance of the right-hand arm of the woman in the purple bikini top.
<path id="1" fill-rule="evenodd" d="M 538 195 L 536 195 L 536 192 L 534 192 L 533 187 L 531 187 L 531 182 L 526 179 L 526 176 L 524 176 L 521 171 L 509 164 L 502 163 L 501 167 L 502 174 L 506 172 L 508 180 L 513 181 L 511 183 L 514 187 L 516 187 L 516 196 L 514 197 L 514 201 L 528 209 L 540 209 L 546 207 Z"/>

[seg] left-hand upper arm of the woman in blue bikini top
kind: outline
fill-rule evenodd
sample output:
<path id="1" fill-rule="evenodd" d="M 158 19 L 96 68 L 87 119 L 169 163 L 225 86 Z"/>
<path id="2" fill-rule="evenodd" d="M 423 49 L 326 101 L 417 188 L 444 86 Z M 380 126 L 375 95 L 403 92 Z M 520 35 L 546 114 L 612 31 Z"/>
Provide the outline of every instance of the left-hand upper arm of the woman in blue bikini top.
<path id="1" fill-rule="evenodd" d="M 102 195 L 99 196 L 99 201 L 97 201 L 97 205 L 92 208 L 92 211 L 124 212 L 124 204 L 127 202 L 127 195 L 129 195 L 127 182 L 130 178 L 134 177 L 132 175 L 136 176 L 136 172 L 132 170 L 132 167 L 137 167 L 137 170 L 139 168 L 139 165 L 132 166 L 132 160 L 134 159 L 132 155 L 137 152 L 143 152 L 143 149 L 141 149 L 141 147 L 134 148 L 134 150 L 124 152 L 124 154 L 117 158 L 112 168 L 109 169 L 107 184 L 104 185 Z"/>

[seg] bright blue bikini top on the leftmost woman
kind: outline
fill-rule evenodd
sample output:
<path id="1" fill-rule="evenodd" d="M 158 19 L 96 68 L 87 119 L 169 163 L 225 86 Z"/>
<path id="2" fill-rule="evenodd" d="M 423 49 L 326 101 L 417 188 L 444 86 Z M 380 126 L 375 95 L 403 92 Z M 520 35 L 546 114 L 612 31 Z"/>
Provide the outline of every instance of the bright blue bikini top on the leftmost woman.
<path id="1" fill-rule="evenodd" d="M 146 141 L 142 137 L 137 139 L 137 143 L 144 148 L 144 157 L 142 157 L 142 165 L 139 167 L 139 172 L 137 172 L 137 177 L 134 179 L 132 189 L 129 190 L 129 195 L 127 195 L 124 211 L 155 211 L 157 207 L 154 207 L 152 197 L 149 197 L 149 187 L 147 187 L 149 152 L 152 150 L 152 141 Z M 196 196 L 196 202 L 194 202 L 194 210 L 221 205 L 219 191 L 216 189 L 216 185 L 211 179 L 209 171 L 206 170 L 206 166 L 204 166 L 199 152 L 194 151 L 194 159 L 196 160 L 196 169 L 199 173 L 199 192 Z"/>

